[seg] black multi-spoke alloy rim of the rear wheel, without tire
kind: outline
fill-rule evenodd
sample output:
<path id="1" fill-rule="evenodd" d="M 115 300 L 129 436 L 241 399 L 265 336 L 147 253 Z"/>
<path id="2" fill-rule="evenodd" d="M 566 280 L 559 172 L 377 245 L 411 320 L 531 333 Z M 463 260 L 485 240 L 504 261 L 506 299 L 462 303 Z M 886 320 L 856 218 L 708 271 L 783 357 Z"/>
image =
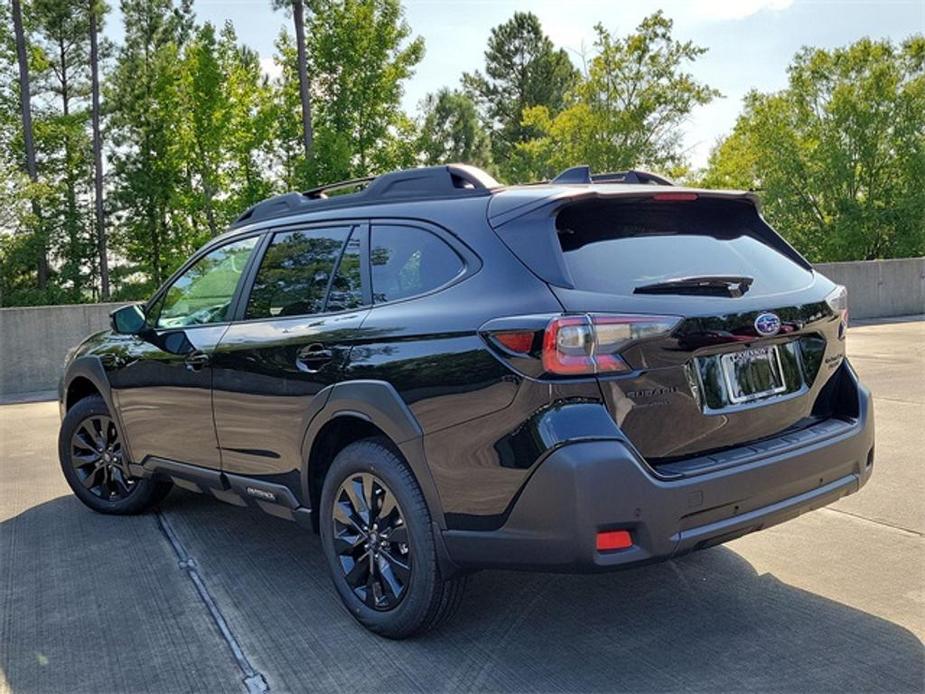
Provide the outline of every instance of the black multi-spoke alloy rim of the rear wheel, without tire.
<path id="1" fill-rule="evenodd" d="M 334 551 L 347 585 L 374 610 L 394 609 L 411 580 L 411 547 L 401 506 L 373 474 L 348 477 L 335 496 Z"/>

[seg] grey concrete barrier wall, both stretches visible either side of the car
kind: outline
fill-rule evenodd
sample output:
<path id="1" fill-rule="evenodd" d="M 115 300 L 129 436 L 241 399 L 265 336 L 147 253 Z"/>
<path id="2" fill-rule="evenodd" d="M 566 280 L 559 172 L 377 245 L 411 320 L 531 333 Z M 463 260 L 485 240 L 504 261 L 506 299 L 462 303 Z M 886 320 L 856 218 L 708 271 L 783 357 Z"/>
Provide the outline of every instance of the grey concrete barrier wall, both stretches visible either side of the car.
<path id="1" fill-rule="evenodd" d="M 819 263 L 816 269 L 848 287 L 852 318 L 925 313 L 925 258 Z M 122 304 L 0 308 L 0 397 L 51 390 L 64 355 L 109 326 Z"/>

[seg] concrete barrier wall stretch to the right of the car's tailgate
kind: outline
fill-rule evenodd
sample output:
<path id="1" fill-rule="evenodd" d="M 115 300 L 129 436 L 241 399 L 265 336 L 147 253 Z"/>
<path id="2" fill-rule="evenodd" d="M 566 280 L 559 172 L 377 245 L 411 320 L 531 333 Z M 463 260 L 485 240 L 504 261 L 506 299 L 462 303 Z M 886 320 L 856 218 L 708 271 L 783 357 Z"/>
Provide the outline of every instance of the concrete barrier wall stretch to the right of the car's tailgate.
<path id="1" fill-rule="evenodd" d="M 925 258 L 817 263 L 816 269 L 848 288 L 851 318 L 925 313 Z"/>

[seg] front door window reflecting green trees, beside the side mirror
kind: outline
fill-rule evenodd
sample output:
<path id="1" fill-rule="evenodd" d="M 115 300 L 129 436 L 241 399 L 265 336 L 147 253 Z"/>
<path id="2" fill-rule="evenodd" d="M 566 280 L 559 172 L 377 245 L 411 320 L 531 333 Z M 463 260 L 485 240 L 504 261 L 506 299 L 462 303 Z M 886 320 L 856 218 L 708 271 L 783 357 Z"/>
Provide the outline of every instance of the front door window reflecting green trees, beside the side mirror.
<path id="1" fill-rule="evenodd" d="M 193 263 L 158 300 L 155 325 L 176 328 L 230 320 L 231 300 L 257 240 L 251 236 L 226 244 Z"/>

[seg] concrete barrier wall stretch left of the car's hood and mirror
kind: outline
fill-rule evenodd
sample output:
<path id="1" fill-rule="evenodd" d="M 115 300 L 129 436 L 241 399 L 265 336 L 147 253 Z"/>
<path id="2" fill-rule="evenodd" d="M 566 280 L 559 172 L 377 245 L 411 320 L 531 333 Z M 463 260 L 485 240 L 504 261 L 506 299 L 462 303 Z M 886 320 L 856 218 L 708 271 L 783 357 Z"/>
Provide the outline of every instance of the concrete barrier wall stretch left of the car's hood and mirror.
<path id="1" fill-rule="evenodd" d="M 57 388 L 67 351 L 123 305 L 0 308 L 0 397 Z"/>

